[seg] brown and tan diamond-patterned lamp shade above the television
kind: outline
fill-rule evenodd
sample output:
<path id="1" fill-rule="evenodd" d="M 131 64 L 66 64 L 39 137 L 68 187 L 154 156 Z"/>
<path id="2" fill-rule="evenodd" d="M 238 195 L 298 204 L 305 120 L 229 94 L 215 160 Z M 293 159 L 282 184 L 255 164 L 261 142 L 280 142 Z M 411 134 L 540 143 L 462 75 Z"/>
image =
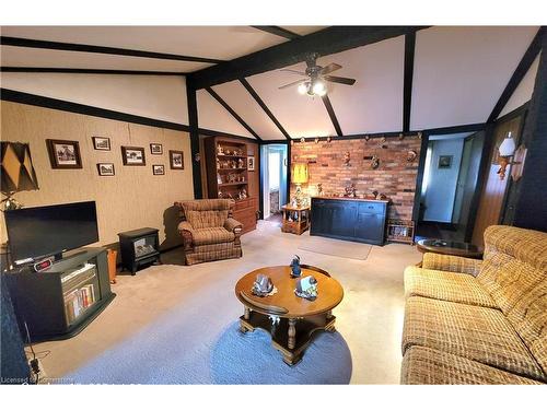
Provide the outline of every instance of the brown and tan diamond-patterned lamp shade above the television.
<path id="1" fill-rule="evenodd" d="M 38 189 L 38 179 L 27 143 L 1 141 L 1 153 L 2 192 Z"/>

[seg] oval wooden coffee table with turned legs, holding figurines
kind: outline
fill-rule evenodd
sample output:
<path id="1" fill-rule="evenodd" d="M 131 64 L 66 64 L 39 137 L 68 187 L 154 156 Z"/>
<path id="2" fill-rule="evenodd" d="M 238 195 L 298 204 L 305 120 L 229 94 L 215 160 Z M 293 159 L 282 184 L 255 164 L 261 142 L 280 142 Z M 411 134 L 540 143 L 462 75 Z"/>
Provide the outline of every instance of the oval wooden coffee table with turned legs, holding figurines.
<path id="1" fill-rule="evenodd" d="M 252 293 L 257 274 L 268 276 L 278 292 L 259 297 Z M 271 344 L 283 354 L 283 361 L 298 363 L 312 341 L 315 330 L 335 331 L 333 309 L 341 302 L 344 290 L 325 271 L 302 268 L 302 278 L 312 274 L 317 279 L 317 298 L 307 301 L 294 294 L 298 279 L 291 278 L 291 268 L 277 266 L 256 269 L 235 285 L 235 295 L 244 305 L 240 330 L 264 329 L 271 335 Z"/>

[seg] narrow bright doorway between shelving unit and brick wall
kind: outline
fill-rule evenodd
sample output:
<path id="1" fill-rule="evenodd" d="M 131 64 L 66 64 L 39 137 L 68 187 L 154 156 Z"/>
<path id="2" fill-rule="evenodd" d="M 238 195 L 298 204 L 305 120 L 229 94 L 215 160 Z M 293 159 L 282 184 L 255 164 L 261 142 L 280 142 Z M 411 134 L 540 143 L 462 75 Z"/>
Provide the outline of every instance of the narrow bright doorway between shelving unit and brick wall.
<path id="1" fill-rule="evenodd" d="M 287 203 L 287 144 L 265 144 L 260 149 L 264 219 L 280 220 Z"/>

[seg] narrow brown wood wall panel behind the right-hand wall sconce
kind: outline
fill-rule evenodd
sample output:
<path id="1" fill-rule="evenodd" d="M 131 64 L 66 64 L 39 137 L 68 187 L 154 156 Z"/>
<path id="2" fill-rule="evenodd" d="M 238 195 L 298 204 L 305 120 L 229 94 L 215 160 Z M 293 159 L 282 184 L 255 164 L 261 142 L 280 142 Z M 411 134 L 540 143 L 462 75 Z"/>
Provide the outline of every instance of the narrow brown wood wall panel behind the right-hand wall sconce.
<path id="1" fill-rule="evenodd" d="M 482 192 L 479 199 L 477 211 L 477 219 L 475 220 L 475 229 L 473 231 L 473 244 L 484 246 L 485 230 L 490 225 L 500 223 L 501 211 L 503 207 L 503 198 L 508 187 L 508 180 L 511 178 L 511 166 L 505 171 L 505 178 L 500 179 L 497 174 L 500 166 L 498 165 L 498 148 L 500 147 L 508 132 L 511 134 L 515 142 L 519 142 L 521 131 L 522 117 L 519 116 L 509 121 L 502 122 L 496 127 L 494 142 L 490 151 L 488 163 L 488 175 L 485 180 Z"/>

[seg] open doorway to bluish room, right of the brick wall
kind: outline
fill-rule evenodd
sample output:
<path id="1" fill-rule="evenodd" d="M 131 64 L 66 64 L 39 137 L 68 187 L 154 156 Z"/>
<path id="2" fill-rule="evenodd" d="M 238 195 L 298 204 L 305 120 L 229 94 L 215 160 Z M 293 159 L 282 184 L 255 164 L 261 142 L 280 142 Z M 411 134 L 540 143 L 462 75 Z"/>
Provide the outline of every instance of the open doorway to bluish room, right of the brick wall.
<path id="1" fill-rule="evenodd" d="M 429 136 L 419 194 L 419 238 L 469 242 L 484 131 Z"/>

